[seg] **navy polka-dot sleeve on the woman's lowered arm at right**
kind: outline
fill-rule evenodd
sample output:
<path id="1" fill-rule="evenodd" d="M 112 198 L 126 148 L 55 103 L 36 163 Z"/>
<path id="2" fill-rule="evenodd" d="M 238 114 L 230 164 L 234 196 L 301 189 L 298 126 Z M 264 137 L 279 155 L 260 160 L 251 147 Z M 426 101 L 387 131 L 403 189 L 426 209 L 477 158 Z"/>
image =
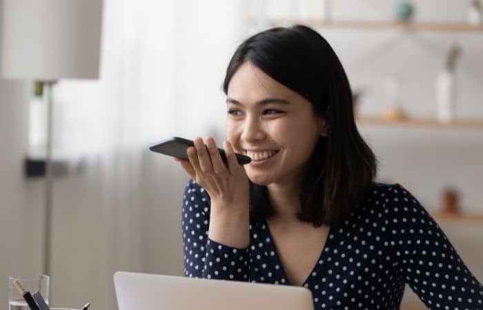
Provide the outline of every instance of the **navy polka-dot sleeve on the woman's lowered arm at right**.
<path id="1" fill-rule="evenodd" d="M 430 214 L 401 185 L 386 207 L 402 280 L 429 309 L 483 309 L 483 287 Z M 392 201 L 391 201 L 392 200 Z"/>

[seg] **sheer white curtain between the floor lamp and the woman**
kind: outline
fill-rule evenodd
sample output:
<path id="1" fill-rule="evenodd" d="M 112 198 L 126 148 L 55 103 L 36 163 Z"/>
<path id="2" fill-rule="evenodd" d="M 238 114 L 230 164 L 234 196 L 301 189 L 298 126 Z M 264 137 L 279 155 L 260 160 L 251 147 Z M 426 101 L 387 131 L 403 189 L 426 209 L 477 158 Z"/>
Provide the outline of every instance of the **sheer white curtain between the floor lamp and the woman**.
<path id="1" fill-rule="evenodd" d="M 221 82 L 248 34 L 241 0 L 106 0 L 101 78 L 54 90 L 51 304 L 115 309 L 117 270 L 182 275 L 188 176 L 148 146 L 224 138 Z"/>

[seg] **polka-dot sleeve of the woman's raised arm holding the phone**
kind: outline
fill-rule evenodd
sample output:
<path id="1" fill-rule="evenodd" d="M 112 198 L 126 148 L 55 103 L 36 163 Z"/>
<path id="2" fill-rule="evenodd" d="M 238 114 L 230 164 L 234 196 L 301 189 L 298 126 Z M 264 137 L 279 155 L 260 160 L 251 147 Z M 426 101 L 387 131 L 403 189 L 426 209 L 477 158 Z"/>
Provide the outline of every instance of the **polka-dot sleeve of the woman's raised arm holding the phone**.
<path id="1" fill-rule="evenodd" d="M 181 227 L 184 275 L 190 278 L 248 281 L 249 247 L 228 247 L 208 238 L 210 197 L 189 180 L 183 194 Z"/>

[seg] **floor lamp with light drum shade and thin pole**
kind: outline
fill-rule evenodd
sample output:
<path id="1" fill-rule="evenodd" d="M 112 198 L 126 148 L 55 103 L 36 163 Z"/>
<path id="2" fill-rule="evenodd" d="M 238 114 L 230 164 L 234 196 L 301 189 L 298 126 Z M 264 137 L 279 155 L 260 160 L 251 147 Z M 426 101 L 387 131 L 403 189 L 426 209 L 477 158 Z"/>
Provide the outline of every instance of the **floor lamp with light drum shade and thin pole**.
<path id="1" fill-rule="evenodd" d="M 4 79 L 33 81 L 34 94 L 45 95 L 46 106 L 44 237 L 42 272 L 50 275 L 52 253 L 52 136 L 54 85 L 61 79 L 97 79 L 101 43 L 102 0 L 4 0 L 1 76 Z M 45 90 L 45 91 L 44 91 Z M 29 141 L 32 142 L 32 141 Z M 27 155 L 27 176 L 32 174 Z M 30 165 L 29 165 L 30 163 Z M 30 167 L 30 169 L 29 169 Z M 38 172 L 41 169 L 37 170 Z"/>

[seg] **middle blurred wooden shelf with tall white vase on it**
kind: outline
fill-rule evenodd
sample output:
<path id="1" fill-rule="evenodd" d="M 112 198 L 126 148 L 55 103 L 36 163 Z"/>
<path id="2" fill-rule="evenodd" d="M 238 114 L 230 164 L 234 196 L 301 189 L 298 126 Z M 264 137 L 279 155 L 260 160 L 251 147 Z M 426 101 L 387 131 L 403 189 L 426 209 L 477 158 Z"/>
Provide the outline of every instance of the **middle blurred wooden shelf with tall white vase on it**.
<path id="1" fill-rule="evenodd" d="M 449 123 L 440 123 L 436 118 L 406 118 L 399 121 L 386 121 L 379 116 L 358 116 L 361 125 L 436 127 L 448 129 L 483 129 L 482 118 L 456 118 Z"/>

